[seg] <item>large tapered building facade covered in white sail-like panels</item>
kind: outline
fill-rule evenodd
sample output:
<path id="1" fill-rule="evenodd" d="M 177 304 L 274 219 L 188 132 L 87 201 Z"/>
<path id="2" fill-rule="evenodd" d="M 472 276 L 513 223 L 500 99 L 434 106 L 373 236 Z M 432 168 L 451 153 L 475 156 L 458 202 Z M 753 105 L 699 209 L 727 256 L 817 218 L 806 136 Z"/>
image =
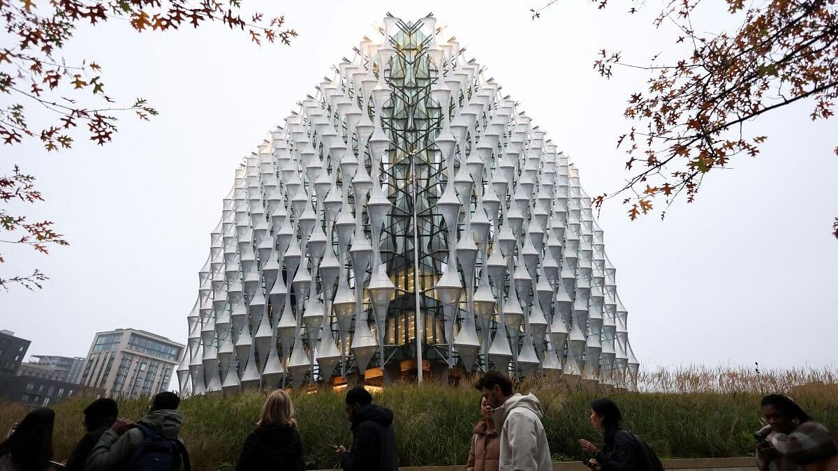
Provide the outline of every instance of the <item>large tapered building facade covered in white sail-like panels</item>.
<path id="1" fill-rule="evenodd" d="M 438 33 L 385 18 L 236 170 L 182 392 L 489 368 L 634 387 L 577 168 Z"/>

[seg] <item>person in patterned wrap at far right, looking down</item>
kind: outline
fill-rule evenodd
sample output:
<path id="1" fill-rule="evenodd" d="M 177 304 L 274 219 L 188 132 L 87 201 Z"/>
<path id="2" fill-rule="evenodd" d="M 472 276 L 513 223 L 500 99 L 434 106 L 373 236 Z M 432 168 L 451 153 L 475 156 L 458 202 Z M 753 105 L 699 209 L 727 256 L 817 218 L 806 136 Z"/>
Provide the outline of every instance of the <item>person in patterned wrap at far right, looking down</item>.
<path id="1" fill-rule="evenodd" d="M 838 470 L 838 441 L 788 396 L 771 394 L 761 403 L 767 425 L 755 433 L 761 471 Z"/>

